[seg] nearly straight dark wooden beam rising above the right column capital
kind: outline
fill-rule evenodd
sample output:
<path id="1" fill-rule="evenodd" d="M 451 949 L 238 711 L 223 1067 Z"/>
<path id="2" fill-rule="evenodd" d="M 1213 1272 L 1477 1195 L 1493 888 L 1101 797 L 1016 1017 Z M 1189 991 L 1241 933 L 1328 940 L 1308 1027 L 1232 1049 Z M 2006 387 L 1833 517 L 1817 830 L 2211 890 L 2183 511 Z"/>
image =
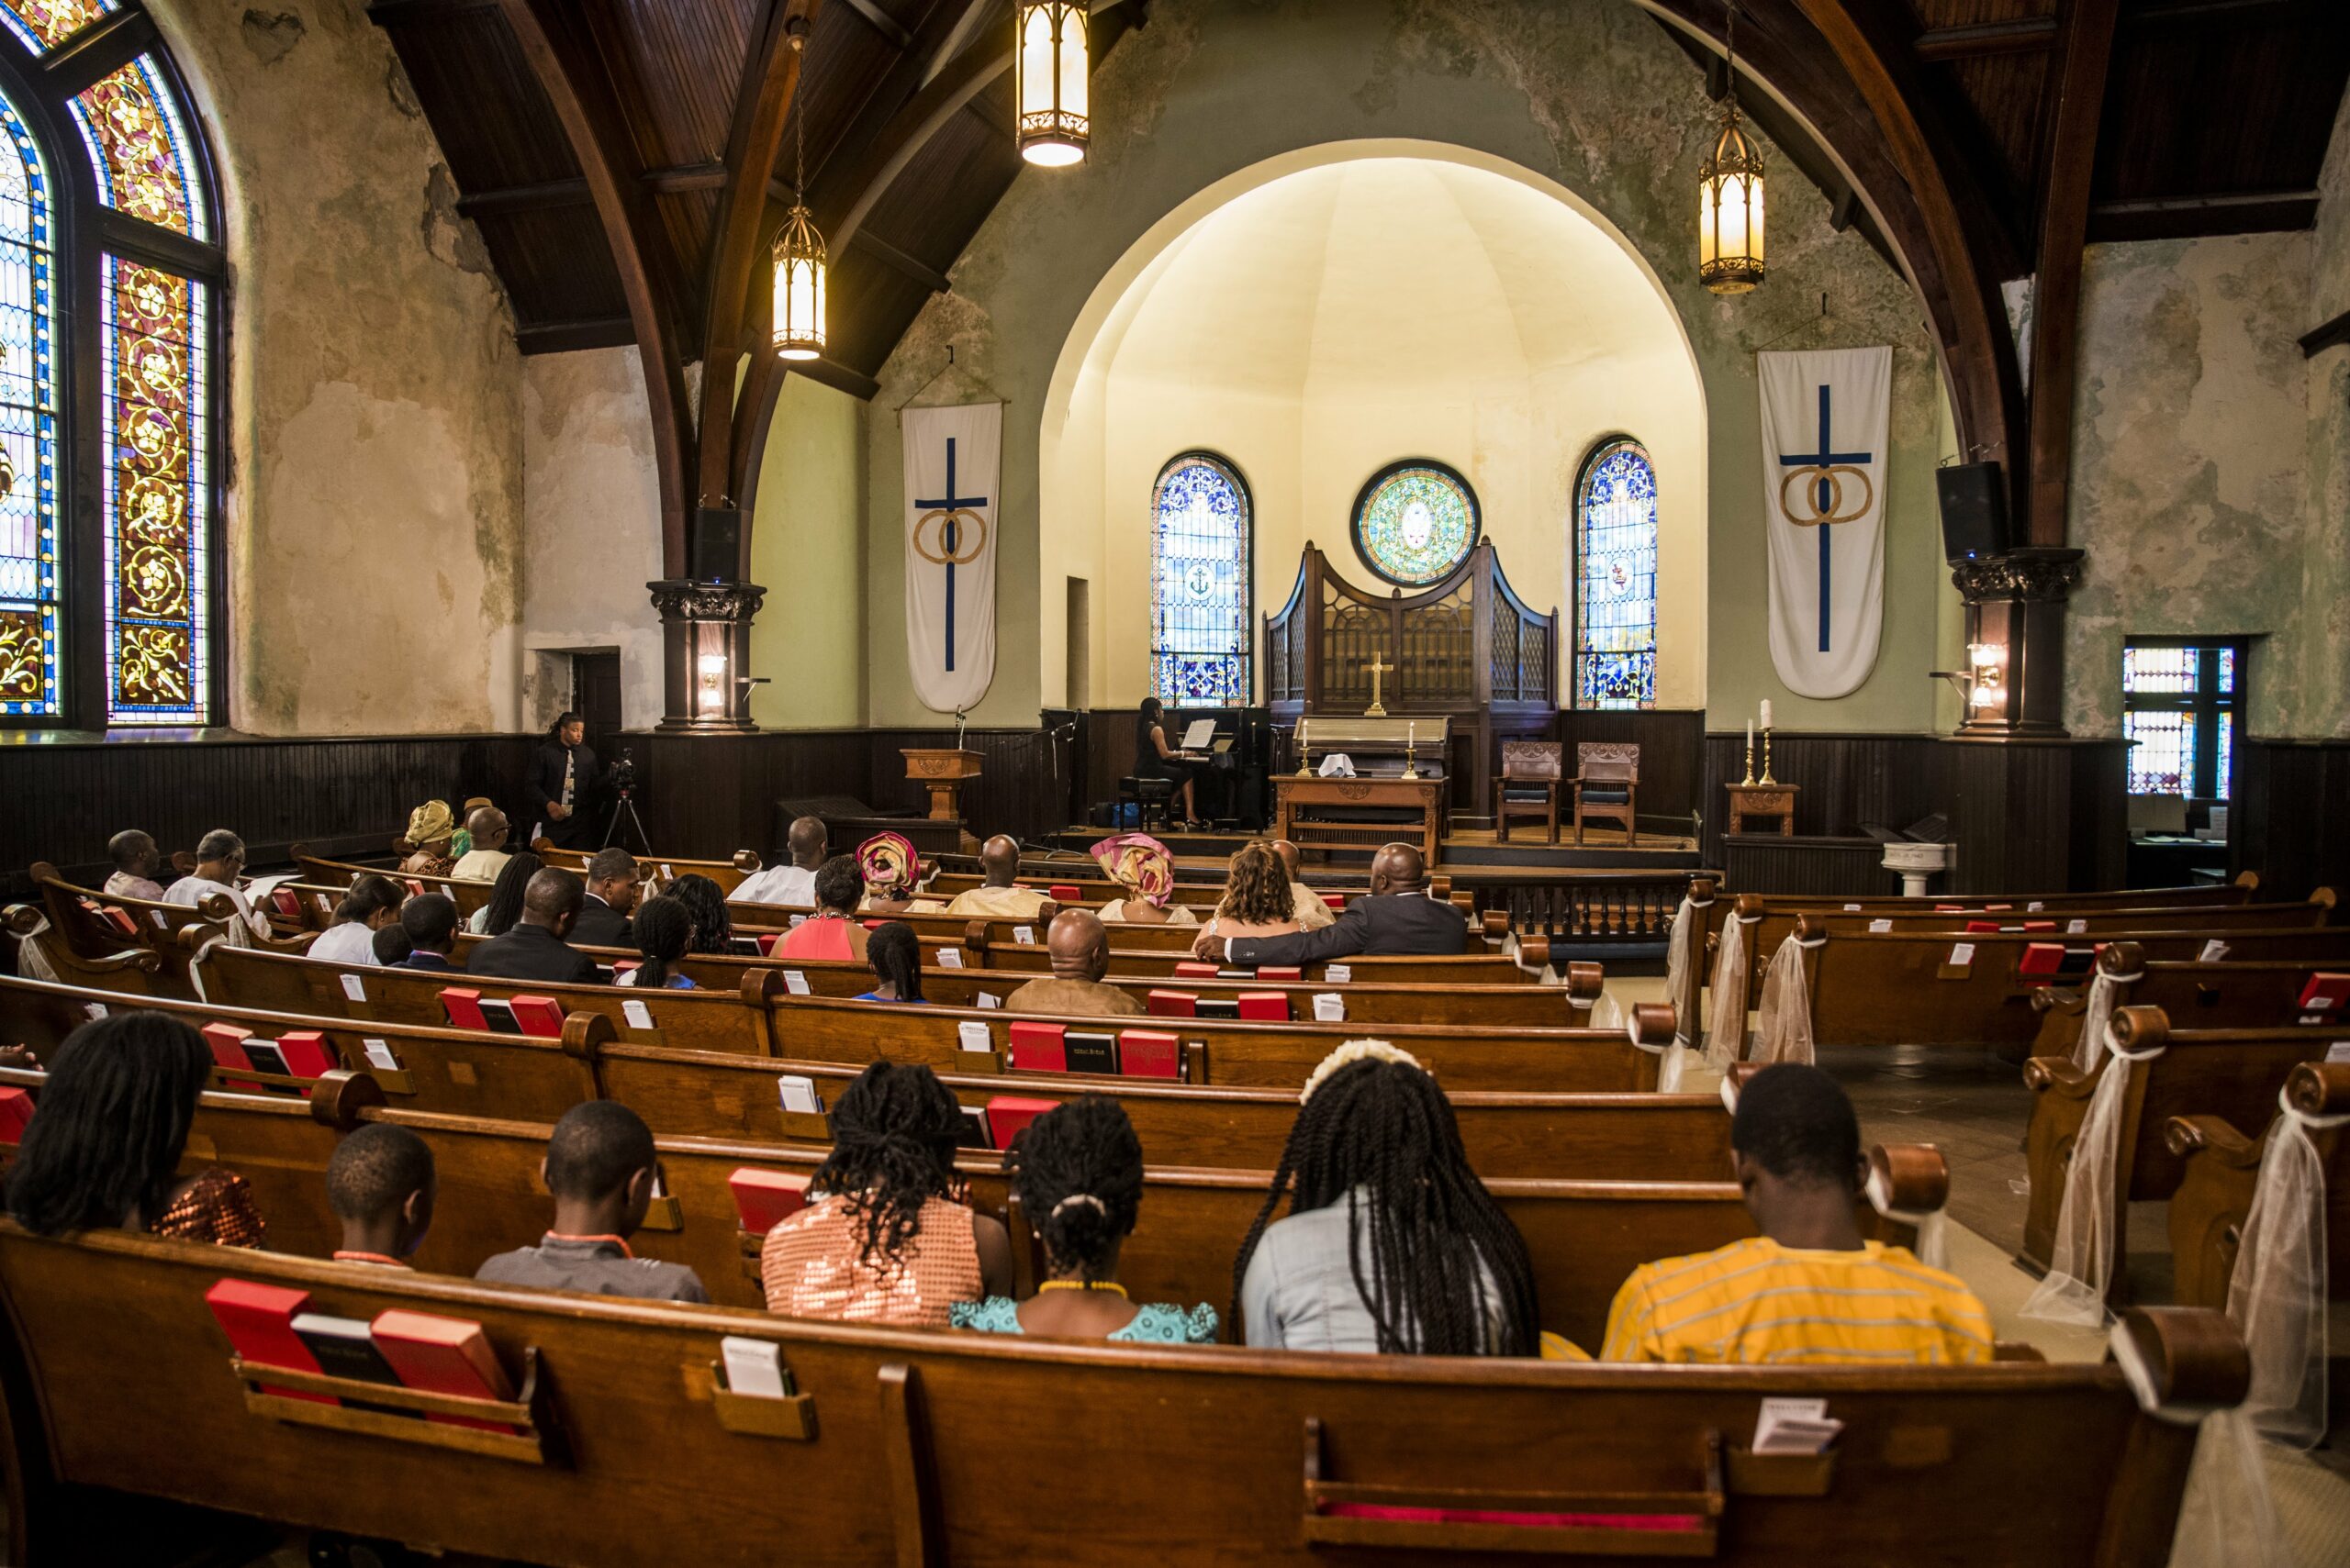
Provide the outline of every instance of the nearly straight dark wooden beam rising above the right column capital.
<path id="1" fill-rule="evenodd" d="M 2023 538 L 2063 545 L 2073 493 L 2073 366 L 2080 357 L 2080 268 L 2089 244 L 2089 178 L 2106 117 L 2106 68 L 2120 0 L 2068 0 L 2049 94 L 2049 169 L 2040 188 L 2033 282 L 2030 469 Z"/>

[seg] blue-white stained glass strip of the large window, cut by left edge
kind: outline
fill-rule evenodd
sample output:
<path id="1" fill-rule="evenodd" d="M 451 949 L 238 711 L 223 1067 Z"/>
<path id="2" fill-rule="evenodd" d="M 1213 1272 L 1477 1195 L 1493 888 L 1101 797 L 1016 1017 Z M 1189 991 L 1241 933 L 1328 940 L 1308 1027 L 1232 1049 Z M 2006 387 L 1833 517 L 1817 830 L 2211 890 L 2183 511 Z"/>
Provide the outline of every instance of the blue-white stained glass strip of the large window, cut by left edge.
<path id="1" fill-rule="evenodd" d="M 59 711 L 49 171 L 0 99 L 0 714 Z"/>

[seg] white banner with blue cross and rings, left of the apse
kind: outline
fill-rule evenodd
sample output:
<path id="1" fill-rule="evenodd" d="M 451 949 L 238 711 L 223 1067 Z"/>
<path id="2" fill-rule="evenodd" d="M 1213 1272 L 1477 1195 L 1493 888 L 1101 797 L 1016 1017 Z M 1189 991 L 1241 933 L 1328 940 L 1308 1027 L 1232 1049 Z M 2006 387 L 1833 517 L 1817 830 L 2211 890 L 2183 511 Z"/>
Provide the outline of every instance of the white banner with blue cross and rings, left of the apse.
<path id="1" fill-rule="evenodd" d="M 905 408 L 905 657 L 938 714 L 996 678 L 996 491 L 1003 404 Z"/>

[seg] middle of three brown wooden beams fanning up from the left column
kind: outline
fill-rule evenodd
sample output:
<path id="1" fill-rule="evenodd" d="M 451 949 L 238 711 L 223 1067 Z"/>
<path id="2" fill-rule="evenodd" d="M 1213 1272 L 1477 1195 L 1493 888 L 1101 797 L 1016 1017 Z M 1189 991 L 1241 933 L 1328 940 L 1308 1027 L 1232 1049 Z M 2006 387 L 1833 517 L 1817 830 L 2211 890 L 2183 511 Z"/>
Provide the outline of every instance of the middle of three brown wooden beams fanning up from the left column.
<path id="1" fill-rule="evenodd" d="M 705 507 L 733 498 L 733 397 L 743 319 L 750 315 L 766 185 L 776 176 L 776 155 L 792 122 L 818 5 L 820 0 L 776 0 L 743 61 L 743 89 L 736 94 L 733 129 L 726 136 L 726 195 L 719 197 L 719 221 L 710 237 L 710 277 L 703 289 L 696 493 Z"/>

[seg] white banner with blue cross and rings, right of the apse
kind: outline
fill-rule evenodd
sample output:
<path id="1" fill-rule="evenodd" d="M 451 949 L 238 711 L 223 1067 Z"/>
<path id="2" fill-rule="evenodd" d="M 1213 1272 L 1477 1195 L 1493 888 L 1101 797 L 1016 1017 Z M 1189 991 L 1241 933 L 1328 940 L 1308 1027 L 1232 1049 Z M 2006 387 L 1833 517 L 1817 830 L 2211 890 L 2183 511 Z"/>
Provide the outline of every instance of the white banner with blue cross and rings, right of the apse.
<path id="1" fill-rule="evenodd" d="M 1798 697 L 1868 678 L 1885 624 L 1885 437 L 1894 352 L 1755 354 L 1770 662 Z"/>

